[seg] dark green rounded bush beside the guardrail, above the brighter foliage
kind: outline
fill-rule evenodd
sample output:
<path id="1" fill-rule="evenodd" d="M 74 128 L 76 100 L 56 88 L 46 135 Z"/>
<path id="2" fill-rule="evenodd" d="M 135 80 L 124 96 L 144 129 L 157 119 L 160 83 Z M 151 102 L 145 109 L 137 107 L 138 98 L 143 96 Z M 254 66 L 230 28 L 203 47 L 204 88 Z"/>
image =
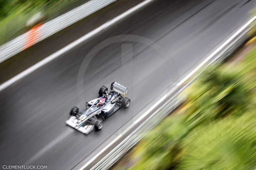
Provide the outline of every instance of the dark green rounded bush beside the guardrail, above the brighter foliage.
<path id="1" fill-rule="evenodd" d="M 188 88 L 187 121 L 208 123 L 227 116 L 240 116 L 248 109 L 254 95 L 247 86 L 246 74 L 239 69 L 213 66 L 205 70 Z"/>

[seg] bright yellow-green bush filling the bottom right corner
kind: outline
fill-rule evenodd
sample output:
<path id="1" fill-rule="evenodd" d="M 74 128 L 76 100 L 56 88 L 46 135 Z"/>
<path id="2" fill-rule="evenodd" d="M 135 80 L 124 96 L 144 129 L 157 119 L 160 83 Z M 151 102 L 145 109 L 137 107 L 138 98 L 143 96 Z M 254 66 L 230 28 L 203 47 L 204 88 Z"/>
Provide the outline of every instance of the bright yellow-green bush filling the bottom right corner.
<path id="1" fill-rule="evenodd" d="M 186 137 L 180 169 L 255 169 L 255 114 L 197 128 Z"/>

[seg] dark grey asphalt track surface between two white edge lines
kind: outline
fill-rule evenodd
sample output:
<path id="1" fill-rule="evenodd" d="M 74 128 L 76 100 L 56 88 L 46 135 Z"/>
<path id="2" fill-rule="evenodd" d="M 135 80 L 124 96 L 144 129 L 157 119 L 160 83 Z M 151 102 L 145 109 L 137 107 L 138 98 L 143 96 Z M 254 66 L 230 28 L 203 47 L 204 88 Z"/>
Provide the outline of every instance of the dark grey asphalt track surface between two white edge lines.
<path id="1" fill-rule="evenodd" d="M 255 5 L 256 0 L 155 1 L 0 92 L 1 166 L 73 168 L 206 58 Z M 108 44 L 103 49 L 97 46 L 102 41 Z M 66 125 L 71 107 L 84 109 L 84 101 L 113 81 L 128 87 L 128 109 L 86 136 Z"/>

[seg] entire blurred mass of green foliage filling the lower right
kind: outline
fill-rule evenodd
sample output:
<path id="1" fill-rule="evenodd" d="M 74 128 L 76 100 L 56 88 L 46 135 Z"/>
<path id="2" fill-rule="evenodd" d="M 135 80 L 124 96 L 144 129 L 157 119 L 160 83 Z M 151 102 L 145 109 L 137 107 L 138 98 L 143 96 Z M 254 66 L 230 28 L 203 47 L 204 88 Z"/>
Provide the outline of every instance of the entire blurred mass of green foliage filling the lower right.
<path id="1" fill-rule="evenodd" d="M 256 48 L 214 65 L 187 89 L 186 105 L 134 148 L 132 169 L 255 169 Z"/>

